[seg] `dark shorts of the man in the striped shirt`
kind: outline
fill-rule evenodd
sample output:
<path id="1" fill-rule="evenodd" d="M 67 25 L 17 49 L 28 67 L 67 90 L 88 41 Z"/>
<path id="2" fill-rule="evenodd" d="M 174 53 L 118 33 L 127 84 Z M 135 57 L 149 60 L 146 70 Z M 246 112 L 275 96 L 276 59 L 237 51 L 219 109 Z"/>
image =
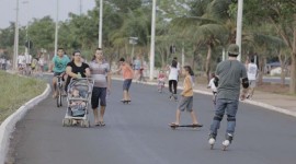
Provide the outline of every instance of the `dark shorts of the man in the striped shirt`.
<path id="1" fill-rule="evenodd" d="M 106 106 L 106 87 L 93 87 L 91 95 L 91 107 L 98 108 L 100 106 Z"/>

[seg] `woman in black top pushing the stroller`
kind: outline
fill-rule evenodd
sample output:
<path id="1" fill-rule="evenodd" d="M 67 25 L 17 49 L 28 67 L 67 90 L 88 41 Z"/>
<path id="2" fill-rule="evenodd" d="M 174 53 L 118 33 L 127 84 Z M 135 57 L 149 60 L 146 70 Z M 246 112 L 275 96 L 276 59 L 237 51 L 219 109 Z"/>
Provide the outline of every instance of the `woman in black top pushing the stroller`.
<path id="1" fill-rule="evenodd" d="M 90 67 L 88 63 L 82 62 L 81 52 L 76 50 L 72 60 L 67 65 L 66 73 L 68 79 L 66 82 L 66 90 L 72 78 L 87 78 L 90 77 Z"/>

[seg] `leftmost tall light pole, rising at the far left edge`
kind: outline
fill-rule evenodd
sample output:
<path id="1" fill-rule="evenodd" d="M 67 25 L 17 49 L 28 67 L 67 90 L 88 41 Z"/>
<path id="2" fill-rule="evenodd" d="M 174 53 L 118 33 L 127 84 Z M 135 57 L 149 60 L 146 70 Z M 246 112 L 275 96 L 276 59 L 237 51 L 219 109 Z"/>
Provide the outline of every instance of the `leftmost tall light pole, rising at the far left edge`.
<path id="1" fill-rule="evenodd" d="M 14 55 L 13 55 L 13 69 L 18 70 L 18 56 L 19 56 L 19 4 L 20 0 L 16 0 L 16 19 L 14 31 Z"/>

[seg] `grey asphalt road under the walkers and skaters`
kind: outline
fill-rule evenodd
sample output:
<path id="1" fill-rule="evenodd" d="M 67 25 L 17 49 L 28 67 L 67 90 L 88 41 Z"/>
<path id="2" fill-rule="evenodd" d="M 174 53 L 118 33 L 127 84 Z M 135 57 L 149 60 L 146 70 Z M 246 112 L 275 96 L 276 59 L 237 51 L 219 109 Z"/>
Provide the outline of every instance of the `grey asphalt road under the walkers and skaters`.
<path id="1" fill-rule="evenodd" d="M 214 109 L 212 97 L 194 95 L 204 127 L 172 130 L 177 103 L 156 86 L 132 84 L 132 104 L 123 105 L 122 82 L 107 98 L 105 127 L 62 127 L 65 107 L 52 97 L 31 109 L 12 138 L 15 164 L 295 164 L 296 119 L 240 104 L 235 140 L 221 151 L 226 121 L 214 150 L 207 144 Z M 93 125 L 92 113 L 91 122 Z M 190 124 L 182 113 L 182 124 Z"/>

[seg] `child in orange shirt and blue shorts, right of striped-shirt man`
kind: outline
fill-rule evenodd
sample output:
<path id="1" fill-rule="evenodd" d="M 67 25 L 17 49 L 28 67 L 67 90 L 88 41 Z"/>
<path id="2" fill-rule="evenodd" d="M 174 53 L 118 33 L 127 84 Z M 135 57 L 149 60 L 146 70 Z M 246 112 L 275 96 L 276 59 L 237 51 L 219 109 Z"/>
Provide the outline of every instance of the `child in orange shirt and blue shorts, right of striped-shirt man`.
<path id="1" fill-rule="evenodd" d="M 134 71 L 133 71 L 130 65 L 127 63 L 124 58 L 119 59 L 119 63 L 121 63 L 119 69 L 114 71 L 113 73 L 122 71 L 123 79 L 124 79 L 124 83 L 123 83 L 123 92 L 124 93 L 123 93 L 122 102 L 128 103 L 132 101 L 130 94 L 129 94 L 129 87 L 132 85 Z"/>

